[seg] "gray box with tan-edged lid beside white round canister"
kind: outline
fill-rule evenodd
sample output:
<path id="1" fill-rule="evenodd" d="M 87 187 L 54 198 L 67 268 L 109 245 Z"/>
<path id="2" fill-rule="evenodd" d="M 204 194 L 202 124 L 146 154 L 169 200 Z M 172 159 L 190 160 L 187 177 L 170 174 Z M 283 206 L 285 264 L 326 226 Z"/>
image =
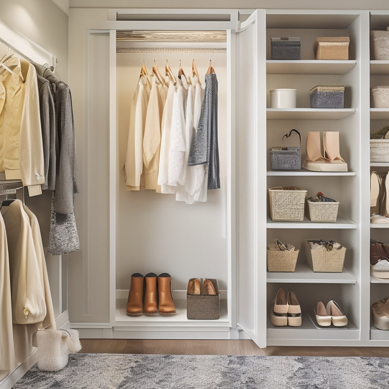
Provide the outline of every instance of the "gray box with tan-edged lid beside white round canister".
<path id="1" fill-rule="evenodd" d="M 317 85 L 309 95 L 311 108 L 343 108 L 344 85 Z"/>

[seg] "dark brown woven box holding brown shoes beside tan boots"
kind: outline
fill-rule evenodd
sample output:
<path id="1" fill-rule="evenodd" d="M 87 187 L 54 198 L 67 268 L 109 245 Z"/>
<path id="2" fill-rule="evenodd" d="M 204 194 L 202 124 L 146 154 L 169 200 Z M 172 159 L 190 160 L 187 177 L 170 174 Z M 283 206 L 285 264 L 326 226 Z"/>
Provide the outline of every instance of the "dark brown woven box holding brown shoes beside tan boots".
<path id="1" fill-rule="evenodd" d="M 220 318 L 220 292 L 216 280 L 212 279 L 216 295 L 187 294 L 186 317 L 190 320 L 217 320 Z M 203 285 L 203 280 L 200 280 Z"/>

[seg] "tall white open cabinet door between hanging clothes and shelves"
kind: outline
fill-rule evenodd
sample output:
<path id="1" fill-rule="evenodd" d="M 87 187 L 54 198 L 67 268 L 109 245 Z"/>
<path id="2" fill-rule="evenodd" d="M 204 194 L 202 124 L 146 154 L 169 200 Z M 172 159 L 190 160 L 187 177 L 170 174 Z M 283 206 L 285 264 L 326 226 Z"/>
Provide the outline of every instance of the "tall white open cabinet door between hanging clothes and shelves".
<path id="1" fill-rule="evenodd" d="M 238 326 L 266 346 L 266 31 L 256 10 L 237 34 Z"/>

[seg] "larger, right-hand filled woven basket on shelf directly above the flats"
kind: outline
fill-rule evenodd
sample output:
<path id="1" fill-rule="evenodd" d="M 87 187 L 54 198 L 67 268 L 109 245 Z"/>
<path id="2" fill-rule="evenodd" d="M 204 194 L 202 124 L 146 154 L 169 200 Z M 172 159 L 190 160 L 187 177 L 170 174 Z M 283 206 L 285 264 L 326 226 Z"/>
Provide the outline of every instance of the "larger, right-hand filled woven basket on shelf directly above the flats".
<path id="1" fill-rule="evenodd" d="M 313 271 L 328 271 L 329 273 L 341 273 L 343 270 L 346 248 L 327 251 L 325 247 L 311 250 L 308 241 L 305 241 L 306 262 Z"/>

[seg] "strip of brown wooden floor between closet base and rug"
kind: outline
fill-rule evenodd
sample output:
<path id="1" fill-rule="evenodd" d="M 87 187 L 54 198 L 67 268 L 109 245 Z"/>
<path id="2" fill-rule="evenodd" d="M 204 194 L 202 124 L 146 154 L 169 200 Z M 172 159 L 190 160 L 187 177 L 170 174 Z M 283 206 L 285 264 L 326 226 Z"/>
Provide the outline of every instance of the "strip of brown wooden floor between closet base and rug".
<path id="1" fill-rule="evenodd" d="M 81 339 L 80 353 L 389 357 L 389 347 L 259 348 L 252 340 Z"/>

